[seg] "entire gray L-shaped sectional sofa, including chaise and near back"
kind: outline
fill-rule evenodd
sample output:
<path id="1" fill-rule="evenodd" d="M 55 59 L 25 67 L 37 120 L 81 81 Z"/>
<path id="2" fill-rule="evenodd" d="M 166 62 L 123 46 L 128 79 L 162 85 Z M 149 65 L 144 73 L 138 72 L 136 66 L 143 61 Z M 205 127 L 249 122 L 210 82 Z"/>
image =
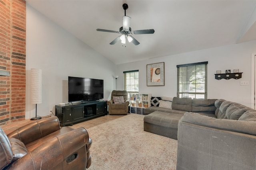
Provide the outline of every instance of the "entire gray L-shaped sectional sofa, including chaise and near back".
<path id="1" fill-rule="evenodd" d="M 197 100 L 174 98 L 172 109 L 165 112 L 149 107 L 147 113 L 152 113 L 144 117 L 144 129 L 171 129 L 173 135 L 166 136 L 174 138 L 177 125 L 177 170 L 255 170 L 256 110 L 220 99 L 213 111 L 213 100 L 202 100 L 199 106 Z M 177 102 L 185 106 L 176 107 Z M 151 132 L 162 135 L 160 129 Z"/>

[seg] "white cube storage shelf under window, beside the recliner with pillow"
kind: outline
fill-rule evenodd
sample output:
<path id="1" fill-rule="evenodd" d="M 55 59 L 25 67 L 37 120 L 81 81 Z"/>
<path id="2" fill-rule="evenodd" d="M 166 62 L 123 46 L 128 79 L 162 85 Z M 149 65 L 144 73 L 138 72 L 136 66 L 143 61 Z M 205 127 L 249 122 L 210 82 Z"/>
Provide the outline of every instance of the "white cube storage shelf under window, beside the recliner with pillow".
<path id="1" fill-rule="evenodd" d="M 130 113 L 144 115 L 144 109 L 150 107 L 151 94 L 130 93 Z"/>

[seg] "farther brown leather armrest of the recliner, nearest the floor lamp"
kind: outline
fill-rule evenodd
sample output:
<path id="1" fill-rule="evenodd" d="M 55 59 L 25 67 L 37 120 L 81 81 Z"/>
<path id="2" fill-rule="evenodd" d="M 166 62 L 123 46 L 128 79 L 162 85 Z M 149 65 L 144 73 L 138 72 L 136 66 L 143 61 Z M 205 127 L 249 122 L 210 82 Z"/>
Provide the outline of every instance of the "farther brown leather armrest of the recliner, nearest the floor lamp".
<path id="1" fill-rule="evenodd" d="M 20 141 L 27 145 L 59 129 L 60 123 L 58 117 L 53 116 L 33 121 L 9 133 L 7 136 L 20 139 Z"/>

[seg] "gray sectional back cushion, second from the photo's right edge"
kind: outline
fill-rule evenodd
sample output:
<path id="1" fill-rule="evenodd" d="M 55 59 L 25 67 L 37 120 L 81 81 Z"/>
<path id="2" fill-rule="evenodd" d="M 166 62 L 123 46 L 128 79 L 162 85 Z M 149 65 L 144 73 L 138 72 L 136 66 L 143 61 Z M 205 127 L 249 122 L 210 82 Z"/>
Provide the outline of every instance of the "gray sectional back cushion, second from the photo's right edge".
<path id="1" fill-rule="evenodd" d="M 244 112 L 246 112 L 246 106 L 238 103 L 232 103 L 226 109 L 226 117 L 227 119 L 238 120 Z"/>

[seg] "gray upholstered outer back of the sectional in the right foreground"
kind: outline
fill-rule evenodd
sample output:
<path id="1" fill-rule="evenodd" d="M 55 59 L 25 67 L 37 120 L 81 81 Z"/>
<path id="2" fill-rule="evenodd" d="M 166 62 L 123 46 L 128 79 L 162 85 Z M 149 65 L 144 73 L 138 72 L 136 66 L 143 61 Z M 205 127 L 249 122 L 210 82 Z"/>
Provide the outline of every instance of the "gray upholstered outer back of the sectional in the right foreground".
<path id="1" fill-rule="evenodd" d="M 203 121 L 197 123 L 194 119 L 189 123 L 187 118 L 192 117 L 198 119 L 199 116 L 185 113 L 178 124 L 177 169 L 249 170 L 256 168 L 256 136 L 229 131 L 228 128 L 223 130 L 225 123 L 232 122 L 227 124 L 227 127 L 231 126 L 230 129 L 232 129 L 232 127 L 236 128 L 235 124 L 238 121 L 220 120 L 201 115 L 200 117 L 205 118 Z M 216 125 L 213 125 L 214 122 Z M 208 123 L 211 125 L 207 125 Z"/>

